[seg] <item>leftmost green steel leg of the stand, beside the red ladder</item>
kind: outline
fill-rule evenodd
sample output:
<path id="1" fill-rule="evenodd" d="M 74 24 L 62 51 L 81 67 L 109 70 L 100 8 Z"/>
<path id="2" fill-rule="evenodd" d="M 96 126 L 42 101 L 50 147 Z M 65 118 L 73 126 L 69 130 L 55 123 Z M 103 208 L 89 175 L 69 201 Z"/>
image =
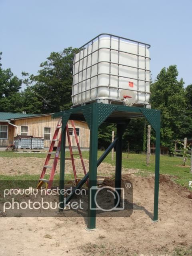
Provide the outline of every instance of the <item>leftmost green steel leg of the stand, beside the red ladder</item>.
<path id="1" fill-rule="evenodd" d="M 66 143 L 66 126 L 63 125 L 62 121 L 62 128 L 61 128 L 61 150 L 60 150 L 60 182 L 59 182 L 59 188 L 60 191 L 64 189 L 64 180 L 65 180 L 65 143 Z M 59 202 L 60 202 L 60 208 L 59 212 L 62 212 L 64 209 L 64 193 L 60 193 L 59 195 Z"/>

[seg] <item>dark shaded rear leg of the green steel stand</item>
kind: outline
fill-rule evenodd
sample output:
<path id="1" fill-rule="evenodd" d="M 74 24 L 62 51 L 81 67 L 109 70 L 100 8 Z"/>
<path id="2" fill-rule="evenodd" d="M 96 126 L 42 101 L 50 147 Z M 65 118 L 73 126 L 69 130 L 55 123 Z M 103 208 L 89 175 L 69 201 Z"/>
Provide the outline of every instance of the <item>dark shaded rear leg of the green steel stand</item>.
<path id="1" fill-rule="evenodd" d="M 117 124 L 117 137 L 118 140 L 116 142 L 116 166 L 115 166 L 115 188 L 116 192 L 119 194 L 119 198 L 121 197 L 121 169 L 122 169 L 122 136 L 124 132 L 124 125 Z M 116 197 L 114 200 L 114 205 L 118 203 L 118 198 Z M 120 207 L 120 202 L 117 207 Z"/>

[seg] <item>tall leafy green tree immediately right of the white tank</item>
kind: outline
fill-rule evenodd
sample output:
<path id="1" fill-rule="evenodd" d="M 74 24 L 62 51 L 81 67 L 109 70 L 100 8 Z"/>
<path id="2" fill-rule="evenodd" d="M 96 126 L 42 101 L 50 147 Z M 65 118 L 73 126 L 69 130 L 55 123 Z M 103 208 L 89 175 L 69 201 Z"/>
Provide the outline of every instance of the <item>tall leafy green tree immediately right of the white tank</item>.
<path id="1" fill-rule="evenodd" d="M 177 80 L 176 65 L 162 68 L 157 80 L 151 84 L 152 108 L 161 110 L 161 144 L 170 146 L 174 139 L 184 136 L 183 120 L 186 117 L 184 82 Z"/>

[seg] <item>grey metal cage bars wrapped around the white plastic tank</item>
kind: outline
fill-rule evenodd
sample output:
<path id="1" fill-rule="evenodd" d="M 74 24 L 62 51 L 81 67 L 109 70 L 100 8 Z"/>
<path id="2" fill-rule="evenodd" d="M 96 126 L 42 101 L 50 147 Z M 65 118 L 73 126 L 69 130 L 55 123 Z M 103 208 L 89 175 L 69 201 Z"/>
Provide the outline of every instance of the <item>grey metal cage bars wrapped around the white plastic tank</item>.
<path id="1" fill-rule="evenodd" d="M 100 39 L 103 38 L 103 37 L 109 37 L 110 38 L 110 45 L 109 47 L 100 47 Z M 112 38 L 115 38 L 116 40 L 118 40 L 118 49 L 115 49 L 115 48 L 112 48 Z M 125 51 L 122 51 L 120 49 L 120 40 L 121 41 L 124 41 L 124 42 L 131 42 L 131 43 L 134 43 L 137 45 L 137 53 L 132 53 L 132 52 L 125 52 Z M 94 42 L 98 41 L 98 47 L 96 50 L 93 50 L 93 44 Z M 139 53 L 139 46 L 142 45 L 144 46 L 144 55 L 141 55 Z M 82 93 L 85 93 L 85 101 L 84 103 L 86 102 L 89 102 L 93 99 L 91 99 L 91 90 L 93 89 L 96 89 L 97 92 L 96 92 L 96 98 L 98 98 L 98 88 L 99 88 L 99 84 L 98 84 L 98 76 L 99 75 L 106 75 L 109 77 L 109 83 L 108 83 L 108 90 L 109 90 L 109 100 L 112 99 L 111 98 L 111 89 L 114 88 L 113 86 L 111 86 L 111 77 L 117 77 L 117 97 L 116 98 L 113 98 L 114 100 L 115 99 L 119 99 L 119 80 L 121 78 L 124 78 L 124 79 L 130 79 L 130 80 L 135 80 L 136 81 L 136 84 L 137 84 L 137 101 L 139 100 L 139 93 L 140 92 L 143 92 L 143 91 L 140 91 L 139 90 L 139 82 L 144 82 L 144 94 L 145 94 L 145 101 L 146 101 L 146 94 L 148 94 L 149 92 L 146 92 L 146 83 L 150 83 L 150 81 L 146 80 L 146 72 L 150 72 L 150 70 L 146 69 L 146 60 L 150 60 L 150 57 L 147 57 L 146 56 L 146 48 L 150 48 L 150 45 L 149 44 L 146 44 L 146 43 L 143 43 L 143 42 L 139 42 L 139 41 L 135 41 L 135 40 L 131 40 L 131 39 L 128 39 L 128 38 L 124 38 L 124 37 L 120 37 L 120 36 L 115 36 L 115 35 L 112 35 L 112 34 L 99 34 L 98 36 L 96 36 L 95 38 L 93 38 L 92 40 L 90 40 L 89 42 L 87 42 L 86 44 L 84 44 L 83 46 L 81 46 L 80 48 L 78 48 L 78 50 L 76 50 L 74 52 L 74 54 L 77 54 L 79 53 L 79 59 L 76 61 L 76 55 L 74 56 L 74 69 L 73 69 L 73 85 L 72 85 L 72 97 L 75 97 L 75 96 L 78 96 L 80 94 L 80 97 L 81 97 L 81 102 L 82 102 Z M 85 55 L 85 49 L 87 49 L 87 54 Z M 104 50 L 109 50 L 109 61 L 99 61 L 99 50 L 101 49 L 104 49 Z M 111 52 L 112 51 L 116 51 L 118 52 L 118 61 L 117 62 L 111 62 Z M 95 64 L 92 64 L 92 55 L 94 53 L 97 52 L 97 62 Z M 129 65 L 126 65 L 126 64 L 121 64 L 120 63 L 120 53 L 123 53 L 123 54 L 130 54 L 130 55 L 134 55 L 134 56 L 137 56 L 137 65 L 136 66 L 129 66 Z M 82 55 L 82 56 L 81 56 Z M 88 56 L 90 56 L 90 65 L 88 66 Z M 144 68 L 140 68 L 139 66 L 139 58 L 144 58 Z M 80 69 L 80 61 L 82 61 L 82 69 Z M 109 64 L 109 73 L 99 73 L 99 64 L 100 63 L 108 63 Z M 76 70 L 76 65 L 75 64 L 78 64 L 78 70 Z M 116 64 L 118 66 L 118 74 L 115 75 L 115 74 L 111 74 L 111 65 L 112 64 Z M 96 75 L 92 75 L 92 67 L 93 66 L 96 66 L 97 65 L 97 74 Z M 134 68 L 137 70 L 137 78 L 132 78 L 132 77 L 129 77 L 129 76 L 121 76 L 120 75 L 120 72 L 119 72 L 119 69 L 120 69 L 120 66 L 124 66 L 124 67 L 129 67 L 129 68 Z M 87 76 L 87 70 L 90 69 L 90 76 L 88 77 Z M 144 80 L 143 79 L 140 79 L 139 77 L 139 70 L 143 70 L 144 71 Z M 85 79 L 83 79 L 83 72 L 85 71 Z M 75 83 L 74 82 L 74 78 L 75 76 L 78 75 L 78 78 L 77 78 L 77 82 Z M 96 77 L 96 87 L 92 88 L 92 78 Z M 90 86 L 88 88 L 87 86 L 87 81 L 90 81 Z M 83 92 L 83 82 L 85 82 L 85 90 Z M 79 86 L 81 84 L 81 90 L 79 91 Z M 77 93 L 74 93 L 74 86 L 78 86 L 77 88 Z M 124 90 L 129 90 L 129 89 L 125 89 Z M 87 91 L 89 91 L 89 97 L 87 97 Z M 135 90 L 134 90 L 135 91 Z M 78 96 L 79 97 L 79 96 Z M 74 104 L 74 102 L 73 102 Z M 74 104 L 74 105 L 79 105 L 78 104 Z"/>

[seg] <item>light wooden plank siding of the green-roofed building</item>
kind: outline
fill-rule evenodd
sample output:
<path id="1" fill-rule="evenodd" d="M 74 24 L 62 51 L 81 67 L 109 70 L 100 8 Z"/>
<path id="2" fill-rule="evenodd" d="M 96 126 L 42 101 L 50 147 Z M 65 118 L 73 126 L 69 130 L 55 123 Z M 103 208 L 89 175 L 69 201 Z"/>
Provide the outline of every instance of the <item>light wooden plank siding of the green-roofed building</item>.
<path id="1" fill-rule="evenodd" d="M 23 118 L 12 121 L 13 124 L 18 126 L 18 135 L 21 134 L 21 126 L 28 126 L 28 135 L 44 138 L 44 128 L 51 128 L 51 140 L 53 138 L 58 119 L 52 119 L 50 116 L 39 116 L 33 118 Z M 89 148 L 89 135 L 90 131 L 86 122 L 74 121 L 75 127 L 80 128 L 80 136 L 78 136 L 79 144 L 81 148 Z M 71 122 L 68 122 L 68 126 L 72 127 Z M 14 127 L 13 127 L 14 128 Z M 17 135 L 17 129 L 14 129 L 14 136 Z M 76 146 L 74 136 L 70 136 L 72 146 Z M 13 136 L 12 136 L 13 140 Z M 44 140 L 44 147 L 49 147 L 51 140 Z M 57 145 L 57 143 L 55 144 Z M 68 141 L 66 139 L 66 146 Z"/>

